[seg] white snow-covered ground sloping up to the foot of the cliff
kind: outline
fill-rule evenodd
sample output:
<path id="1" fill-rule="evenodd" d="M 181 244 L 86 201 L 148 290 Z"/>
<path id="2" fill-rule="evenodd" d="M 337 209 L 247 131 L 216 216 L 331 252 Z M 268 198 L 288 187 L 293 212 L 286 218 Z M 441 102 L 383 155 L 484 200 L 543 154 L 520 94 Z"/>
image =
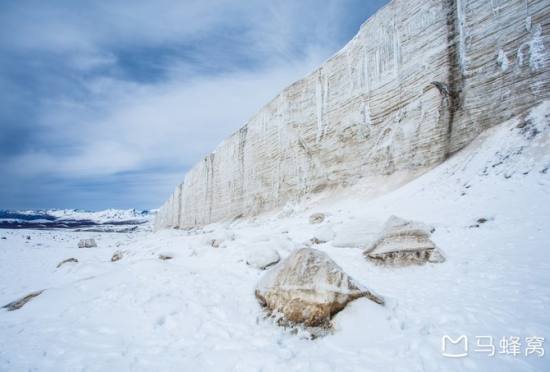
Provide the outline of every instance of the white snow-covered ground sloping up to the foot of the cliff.
<path id="1" fill-rule="evenodd" d="M 193 231 L 0 230 L 0 304 L 46 289 L 0 311 L 0 371 L 548 371 L 549 355 L 525 355 L 526 337 L 550 336 L 550 104 L 535 111 L 376 198 L 381 185 L 365 182 Z M 328 217 L 310 224 L 314 212 Z M 360 248 L 390 215 L 435 227 L 446 262 L 366 261 Z M 245 261 L 254 246 L 285 257 L 319 234 L 330 240 L 315 247 L 386 305 L 356 300 L 311 340 L 264 319 L 254 297 L 263 271 Z M 98 247 L 78 249 L 82 238 Z M 69 257 L 79 262 L 56 268 Z M 468 356 L 442 355 L 445 335 L 467 336 Z M 476 351 L 480 336 L 496 355 Z M 522 354 L 499 353 L 515 336 Z"/>

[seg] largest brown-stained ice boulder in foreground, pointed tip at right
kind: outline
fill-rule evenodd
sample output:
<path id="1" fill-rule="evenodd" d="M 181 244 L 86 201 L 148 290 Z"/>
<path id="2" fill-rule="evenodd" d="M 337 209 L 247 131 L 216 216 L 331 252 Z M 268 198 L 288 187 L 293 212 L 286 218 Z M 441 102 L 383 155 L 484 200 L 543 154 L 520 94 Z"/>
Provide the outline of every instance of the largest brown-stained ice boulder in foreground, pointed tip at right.
<path id="1" fill-rule="evenodd" d="M 359 297 L 384 300 L 348 276 L 326 253 L 302 248 L 269 270 L 256 298 L 281 324 L 330 327 L 331 317 Z"/>

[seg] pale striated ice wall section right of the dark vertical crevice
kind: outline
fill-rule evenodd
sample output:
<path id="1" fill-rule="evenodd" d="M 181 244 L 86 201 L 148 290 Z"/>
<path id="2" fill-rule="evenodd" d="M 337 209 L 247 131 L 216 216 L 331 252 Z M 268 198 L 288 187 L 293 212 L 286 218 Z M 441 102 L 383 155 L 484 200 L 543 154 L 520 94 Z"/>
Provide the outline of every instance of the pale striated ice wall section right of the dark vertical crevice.
<path id="1" fill-rule="evenodd" d="M 456 151 L 550 96 L 550 1 L 453 3 L 462 82 L 452 123 L 451 151 Z"/>

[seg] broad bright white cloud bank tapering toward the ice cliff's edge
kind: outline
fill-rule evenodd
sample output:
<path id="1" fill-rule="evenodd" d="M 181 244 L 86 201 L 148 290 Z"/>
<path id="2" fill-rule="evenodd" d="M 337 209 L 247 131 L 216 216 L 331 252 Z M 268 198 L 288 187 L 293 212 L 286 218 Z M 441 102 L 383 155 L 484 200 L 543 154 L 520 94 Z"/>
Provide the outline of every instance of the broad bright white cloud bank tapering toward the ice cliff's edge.
<path id="1" fill-rule="evenodd" d="M 27 176 L 60 177 L 108 176 L 166 163 L 183 170 L 321 58 L 156 85 L 90 81 L 96 101 L 51 102 L 44 113 L 43 140 L 51 142 L 52 152 L 22 154 L 13 159 L 13 168 Z M 69 151 L 55 151 L 56 142 Z"/>

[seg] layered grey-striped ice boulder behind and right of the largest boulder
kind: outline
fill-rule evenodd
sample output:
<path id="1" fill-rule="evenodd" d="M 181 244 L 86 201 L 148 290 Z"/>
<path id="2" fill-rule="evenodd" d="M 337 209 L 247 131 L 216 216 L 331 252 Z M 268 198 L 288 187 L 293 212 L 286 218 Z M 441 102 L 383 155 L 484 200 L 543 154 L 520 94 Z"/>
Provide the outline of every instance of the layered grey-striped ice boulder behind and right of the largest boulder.
<path id="1" fill-rule="evenodd" d="M 431 230 L 423 223 L 391 216 L 364 254 L 369 261 L 384 265 L 443 262 L 445 257 L 430 240 Z"/>

